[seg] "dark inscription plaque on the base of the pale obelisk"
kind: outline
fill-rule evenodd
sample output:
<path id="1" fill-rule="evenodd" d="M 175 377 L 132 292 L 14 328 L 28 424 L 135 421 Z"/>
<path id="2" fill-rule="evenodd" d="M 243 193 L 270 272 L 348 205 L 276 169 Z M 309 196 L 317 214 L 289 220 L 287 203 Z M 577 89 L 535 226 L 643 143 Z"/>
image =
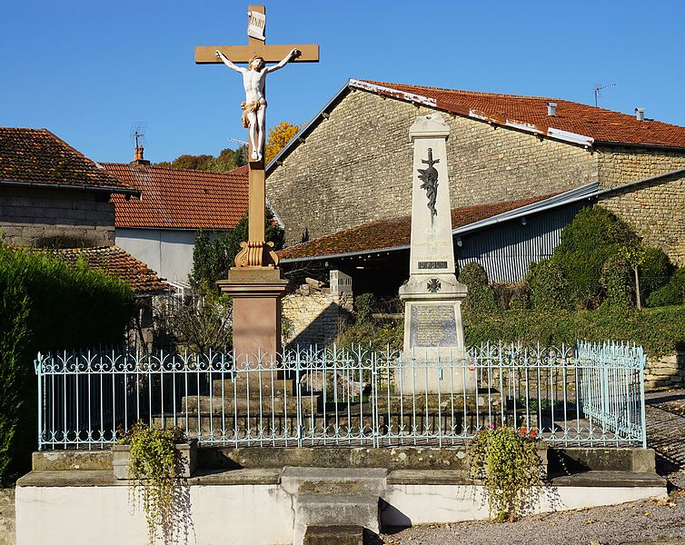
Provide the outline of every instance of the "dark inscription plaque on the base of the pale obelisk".
<path id="1" fill-rule="evenodd" d="M 454 305 L 414 304 L 411 321 L 412 348 L 458 346 Z"/>

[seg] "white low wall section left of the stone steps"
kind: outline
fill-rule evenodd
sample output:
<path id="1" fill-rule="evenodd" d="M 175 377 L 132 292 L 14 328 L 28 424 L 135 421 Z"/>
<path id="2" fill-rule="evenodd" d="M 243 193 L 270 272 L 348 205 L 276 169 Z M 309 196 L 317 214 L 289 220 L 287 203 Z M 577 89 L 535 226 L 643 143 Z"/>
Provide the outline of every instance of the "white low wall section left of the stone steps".
<path id="1" fill-rule="evenodd" d="M 40 483 L 31 479 L 17 484 L 17 544 L 146 545 L 144 513 L 132 512 L 126 483 L 105 484 L 110 472 L 78 472 L 98 475 L 88 476 L 91 482 L 83 486 L 60 479 L 52 486 L 47 481 L 32 486 Z M 291 496 L 281 489 L 277 473 L 274 477 L 270 484 L 190 485 L 188 512 L 182 514 L 189 523 L 188 538 L 179 542 L 291 543 Z"/>

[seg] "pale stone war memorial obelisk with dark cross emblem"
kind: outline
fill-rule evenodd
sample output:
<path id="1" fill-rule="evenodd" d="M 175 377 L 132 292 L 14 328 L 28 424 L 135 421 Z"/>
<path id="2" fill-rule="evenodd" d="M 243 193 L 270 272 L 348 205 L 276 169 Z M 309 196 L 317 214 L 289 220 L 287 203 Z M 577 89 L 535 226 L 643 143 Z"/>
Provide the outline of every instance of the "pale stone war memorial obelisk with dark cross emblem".
<path id="1" fill-rule="evenodd" d="M 445 145 L 450 127 L 441 114 L 421 115 L 409 135 L 414 146 L 412 243 L 409 281 L 400 288 L 404 352 L 395 386 L 403 394 L 472 391 L 475 373 L 463 366 L 466 286 L 454 274 Z"/>

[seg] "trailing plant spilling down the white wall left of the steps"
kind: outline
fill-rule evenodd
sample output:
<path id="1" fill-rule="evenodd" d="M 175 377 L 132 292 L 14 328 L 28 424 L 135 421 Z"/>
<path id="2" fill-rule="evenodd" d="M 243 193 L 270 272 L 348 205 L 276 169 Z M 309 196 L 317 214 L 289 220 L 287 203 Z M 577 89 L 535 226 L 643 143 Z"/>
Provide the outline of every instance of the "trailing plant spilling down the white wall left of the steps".
<path id="1" fill-rule="evenodd" d="M 186 441 L 180 428 L 163 430 L 143 422 L 134 424 L 119 441 L 119 444 L 130 445 L 131 448 L 128 466 L 130 499 L 134 509 L 143 507 L 151 545 L 158 532 L 164 543 L 174 541 L 174 514 L 180 492 L 176 478 L 183 466 L 175 445 Z"/>

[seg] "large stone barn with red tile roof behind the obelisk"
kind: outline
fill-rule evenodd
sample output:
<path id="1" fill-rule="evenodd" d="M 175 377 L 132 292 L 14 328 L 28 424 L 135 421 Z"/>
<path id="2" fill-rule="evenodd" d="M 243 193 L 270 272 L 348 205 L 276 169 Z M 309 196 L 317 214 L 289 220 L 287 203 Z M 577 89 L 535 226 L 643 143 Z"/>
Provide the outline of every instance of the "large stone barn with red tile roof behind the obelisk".
<path id="1" fill-rule="evenodd" d="M 566 101 L 558 101 L 552 116 L 548 99 L 540 97 L 408 85 L 388 91 L 386 84 L 353 82 L 267 169 L 267 194 L 285 224 L 287 245 L 300 243 L 305 233 L 314 239 L 409 214 L 409 127 L 419 114 L 438 111 L 450 124 L 452 208 L 562 193 L 587 183 L 612 188 L 685 168 L 683 127 Z M 472 107 L 464 106 L 470 101 Z M 514 116 L 530 119 L 509 121 Z M 647 243 L 683 263 L 682 183 L 648 182 L 619 193 L 607 206 Z"/>

